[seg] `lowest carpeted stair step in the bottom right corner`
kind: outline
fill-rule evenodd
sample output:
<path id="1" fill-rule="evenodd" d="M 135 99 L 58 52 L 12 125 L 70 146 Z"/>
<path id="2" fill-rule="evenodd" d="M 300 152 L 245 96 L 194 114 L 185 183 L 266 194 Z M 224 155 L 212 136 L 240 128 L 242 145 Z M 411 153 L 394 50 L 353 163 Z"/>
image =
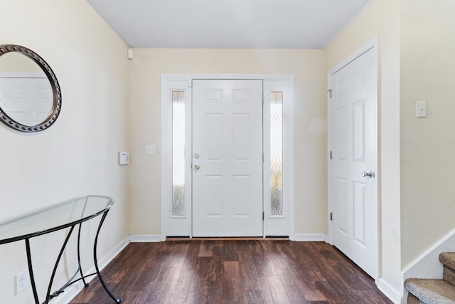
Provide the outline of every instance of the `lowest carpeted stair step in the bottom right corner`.
<path id="1" fill-rule="evenodd" d="M 408 278 L 405 287 L 425 304 L 455 304 L 455 286 L 438 279 Z"/>

